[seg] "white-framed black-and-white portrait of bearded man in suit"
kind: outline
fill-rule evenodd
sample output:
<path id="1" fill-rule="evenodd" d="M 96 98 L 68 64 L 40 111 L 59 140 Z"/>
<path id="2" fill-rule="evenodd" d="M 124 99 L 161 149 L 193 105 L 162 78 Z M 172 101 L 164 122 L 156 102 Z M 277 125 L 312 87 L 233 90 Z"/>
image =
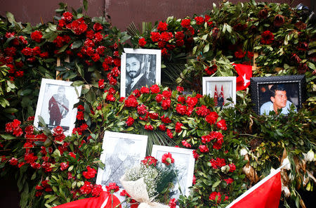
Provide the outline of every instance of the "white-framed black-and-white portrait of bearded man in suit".
<path id="1" fill-rule="evenodd" d="M 124 48 L 121 55 L 121 97 L 142 86 L 160 84 L 162 51 Z"/>

